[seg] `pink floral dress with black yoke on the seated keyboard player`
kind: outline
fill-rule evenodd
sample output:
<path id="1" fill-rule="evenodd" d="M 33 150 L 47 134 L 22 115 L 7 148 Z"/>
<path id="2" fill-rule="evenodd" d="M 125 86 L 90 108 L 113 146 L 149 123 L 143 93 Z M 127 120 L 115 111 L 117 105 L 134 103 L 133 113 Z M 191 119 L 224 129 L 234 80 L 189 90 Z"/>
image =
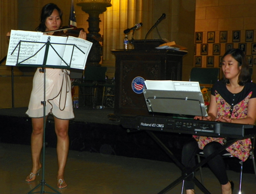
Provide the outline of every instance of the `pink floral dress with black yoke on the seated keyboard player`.
<path id="1" fill-rule="evenodd" d="M 217 118 L 221 115 L 230 115 L 231 118 L 246 118 L 248 111 L 248 102 L 251 98 L 256 98 L 256 84 L 246 83 L 243 90 L 239 93 L 231 93 L 226 84 L 219 81 L 211 89 L 211 94 L 215 95 L 218 112 Z M 211 142 L 217 141 L 221 144 L 224 138 L 193 136 L 198 141 L 198 146 L 203 149 L 204 146 Z M 242 161 L 247 160 L 251 150 L 251 140 L 242 139 L 233 143 L 226 149 L 230 154 L 236 156 Z"/>

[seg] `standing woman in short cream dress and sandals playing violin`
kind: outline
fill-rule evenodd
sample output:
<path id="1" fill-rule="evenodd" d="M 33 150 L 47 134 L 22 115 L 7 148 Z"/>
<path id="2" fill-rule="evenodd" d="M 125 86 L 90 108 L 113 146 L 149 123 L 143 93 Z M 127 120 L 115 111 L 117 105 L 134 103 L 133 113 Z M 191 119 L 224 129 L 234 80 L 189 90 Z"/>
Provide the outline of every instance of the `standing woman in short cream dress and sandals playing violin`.
<path id="1" fill-rule="evenodd" d="M 61 27 L 62 12 L 55 4 L 47 4 L 41 10 L 40 24 L 37 31 L 58 30 Z M 86 39 L 86 33 L 80 31 L 79 38 Z M 71 96 L 70 71 L 67 69 L 46 68 L 46 116 L 54 117 L 55 132 L 57 135 L 57 187 L 65 188 L 64 170 L 69 151 L 69 119 L 74 118 Z M 32 169 L 26 181 L 35 180 L 41 169 L 40 153 L 44 135 L 44 73 L 36 70 L 33 79 L 33 89 L 30 96 L 29 107 L 26 114 L 32 118 L 31 152 Z"/>

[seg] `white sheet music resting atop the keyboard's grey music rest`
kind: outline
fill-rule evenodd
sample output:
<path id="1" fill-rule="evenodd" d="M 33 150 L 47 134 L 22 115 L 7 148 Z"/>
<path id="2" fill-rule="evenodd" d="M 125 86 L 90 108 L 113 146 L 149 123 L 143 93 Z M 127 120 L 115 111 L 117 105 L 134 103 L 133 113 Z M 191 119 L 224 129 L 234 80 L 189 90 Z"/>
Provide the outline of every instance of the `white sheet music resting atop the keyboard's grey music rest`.
<path id="1" fill-rule="evenodd" d="M 171 81 L 171 80 L 146 80 L 146 89 L 169 91 L 201 91 L 199 82 Z"/>

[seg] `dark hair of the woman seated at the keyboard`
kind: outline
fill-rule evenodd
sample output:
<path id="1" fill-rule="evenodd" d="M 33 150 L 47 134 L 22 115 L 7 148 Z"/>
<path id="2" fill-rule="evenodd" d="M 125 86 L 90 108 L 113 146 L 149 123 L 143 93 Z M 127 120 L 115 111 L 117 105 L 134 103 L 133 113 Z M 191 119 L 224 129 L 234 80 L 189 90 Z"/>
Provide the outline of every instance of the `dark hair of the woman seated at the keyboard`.
<path id="1" fill-rule="evenodd" d="M 223 55 L 223 58 L 227 55 L 231 55 L 234 58 L 234 60 L 238 62 L 238 66 L 241 66 L 240 74 L 238 77 L 238 84 L 240 86 L 244 86 L 246 82 L 250 82 L 251 75 L 249 72 L 248 61 L 246 60 L 244 52 L 239 48 L 232 48 Z M 223 81 L 225 83 L 229 83 L 229 80 L 226 79 L 225 76 L 223 77 Z"/>

